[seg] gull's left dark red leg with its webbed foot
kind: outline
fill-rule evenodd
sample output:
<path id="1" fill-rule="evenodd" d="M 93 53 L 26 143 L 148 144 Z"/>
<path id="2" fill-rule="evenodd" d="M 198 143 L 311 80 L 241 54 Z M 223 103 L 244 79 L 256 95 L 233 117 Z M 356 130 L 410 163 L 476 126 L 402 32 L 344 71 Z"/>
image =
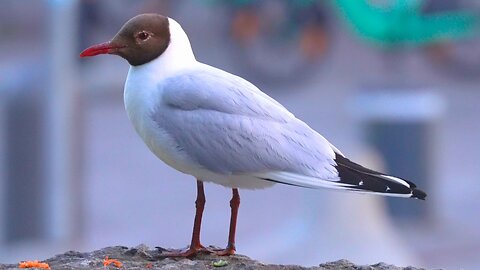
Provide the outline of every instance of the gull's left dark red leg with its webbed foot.
<path id="1" fill-rule="evenodd" d="M 203 209 L 205 208 L 205 192 L 203 190 L 203 182 L 197 180 L 197 200 L 195 201 L 195 220 L 193 222 L 193 233 L 192 233 L 192 242 L 190 247 L 181 252 L 171 252 L 162 254 L 166 257 L 190 257 L 196 255 L 200 251 L 206 250 L 204 246 L 200 243 L 200 227 L 202 225 L 202 215 Z"/>

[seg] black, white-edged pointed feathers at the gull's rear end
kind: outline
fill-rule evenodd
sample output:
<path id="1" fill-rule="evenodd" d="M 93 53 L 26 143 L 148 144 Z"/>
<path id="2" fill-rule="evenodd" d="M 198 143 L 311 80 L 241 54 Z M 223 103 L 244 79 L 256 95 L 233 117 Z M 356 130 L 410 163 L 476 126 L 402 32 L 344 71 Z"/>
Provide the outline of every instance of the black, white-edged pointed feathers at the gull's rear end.
<path id="1" fill-rule="evenodd" d="M 365 168 L 336 153 L 335 168 L 344 189 L 385 196 L 410 197 L 425 200 L 427 194 L 414 183 Z"/>

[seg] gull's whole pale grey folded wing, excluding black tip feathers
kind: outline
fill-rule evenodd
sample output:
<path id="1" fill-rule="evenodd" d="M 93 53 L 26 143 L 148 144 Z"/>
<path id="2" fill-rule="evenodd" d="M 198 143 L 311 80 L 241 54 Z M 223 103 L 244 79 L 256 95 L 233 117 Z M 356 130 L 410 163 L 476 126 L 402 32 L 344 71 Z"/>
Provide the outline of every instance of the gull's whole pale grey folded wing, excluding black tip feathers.
<path id="1" fill-rule="evenodd" d="M 280 182 L 286 182 L 285 173 L 338 178 L 326 139 L 252 84 L 229 73 L 221 75 L 186 73 L 160 86 L 162 105 L 152 117 L 177 149 L 198 166 L 220 174 Z"/>

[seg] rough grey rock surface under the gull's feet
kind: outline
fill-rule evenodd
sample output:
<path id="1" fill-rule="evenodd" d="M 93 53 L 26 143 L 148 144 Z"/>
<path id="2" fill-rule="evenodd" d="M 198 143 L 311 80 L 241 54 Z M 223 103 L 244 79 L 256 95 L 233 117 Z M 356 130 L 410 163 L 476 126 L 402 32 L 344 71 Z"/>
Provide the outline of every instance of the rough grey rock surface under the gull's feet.
<path id="1" fill-rule="evenodd" d="M 64 254 L 54 256 L 44 262 L 50 265 L 50 269 L 263 269 L 263 270 L 416 270 L 415 267 L 396 267 L 385 263 L 374 265 L 355 265 L 348 260 L 328 262 L 314 267 L 303 267 L 299 265 L 274 265 L 263 264 L 252 260 L 247 256 L 234 255 L 220 257 L 213 254 L 200 254 L 194 258 L 162 258 L 161 254 L 165 249 L 149 249 L 145 245 L 135 248 L 122 246 L 107 247 L 93 252 L 68 251 Z M 104 266 L 104 259 L 116 259 L 122 263 L 120 268 L 113 264 Z M 221 261 L 223 260 L 223 261 Z M 222 265 L 222 266 L 221 266 Z M 0 269 L 20 269 L 18 265 L 0 264 Z"/>

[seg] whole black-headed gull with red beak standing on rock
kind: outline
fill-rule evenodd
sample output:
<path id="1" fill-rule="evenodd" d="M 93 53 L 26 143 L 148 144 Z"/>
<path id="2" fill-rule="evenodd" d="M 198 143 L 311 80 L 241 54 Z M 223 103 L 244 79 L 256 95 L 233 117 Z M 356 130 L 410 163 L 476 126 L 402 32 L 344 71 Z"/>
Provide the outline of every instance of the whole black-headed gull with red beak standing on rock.
<path id="1" fill-rule="evenodd" d="M 80 56 L 99 54 L 118 55 L 130 64 L 125 109 L 148 148 L 167 165 L 197 180 L 191 244 L 168 256 L 189 257 L 205 251 L 234 254 L 238 189 L 286 184 L 426 197 L 410 181 L 350 161 L 249 81 L 197 61 L 187 34 L 172 18 L 133 17 L 113 39 L 85 49 Z M 203 182 L 232 189 L 225 249 L 210 250 L 200 242 Z"/>

